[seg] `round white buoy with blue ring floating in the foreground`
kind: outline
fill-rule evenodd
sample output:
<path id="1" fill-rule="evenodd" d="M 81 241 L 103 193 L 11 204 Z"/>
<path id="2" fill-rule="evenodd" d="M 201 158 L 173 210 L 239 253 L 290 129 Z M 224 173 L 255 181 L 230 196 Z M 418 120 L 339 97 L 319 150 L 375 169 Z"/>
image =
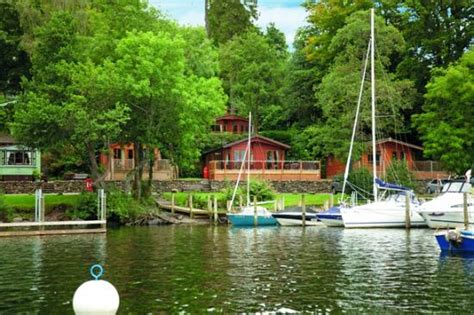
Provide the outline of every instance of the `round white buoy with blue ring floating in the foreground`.
<path id="1" fill-rule="evenodd" d="M 98 270 L 95 274 L 94 270 Z M 115 287 L 108 281 L 99 280 L 104 273 L 101 265 L 90 269 L 95 280 L 81 284 L 74 293 L 72 306 L 76 315 L 115 315 L 119 308 L 120 297 Z"/>

